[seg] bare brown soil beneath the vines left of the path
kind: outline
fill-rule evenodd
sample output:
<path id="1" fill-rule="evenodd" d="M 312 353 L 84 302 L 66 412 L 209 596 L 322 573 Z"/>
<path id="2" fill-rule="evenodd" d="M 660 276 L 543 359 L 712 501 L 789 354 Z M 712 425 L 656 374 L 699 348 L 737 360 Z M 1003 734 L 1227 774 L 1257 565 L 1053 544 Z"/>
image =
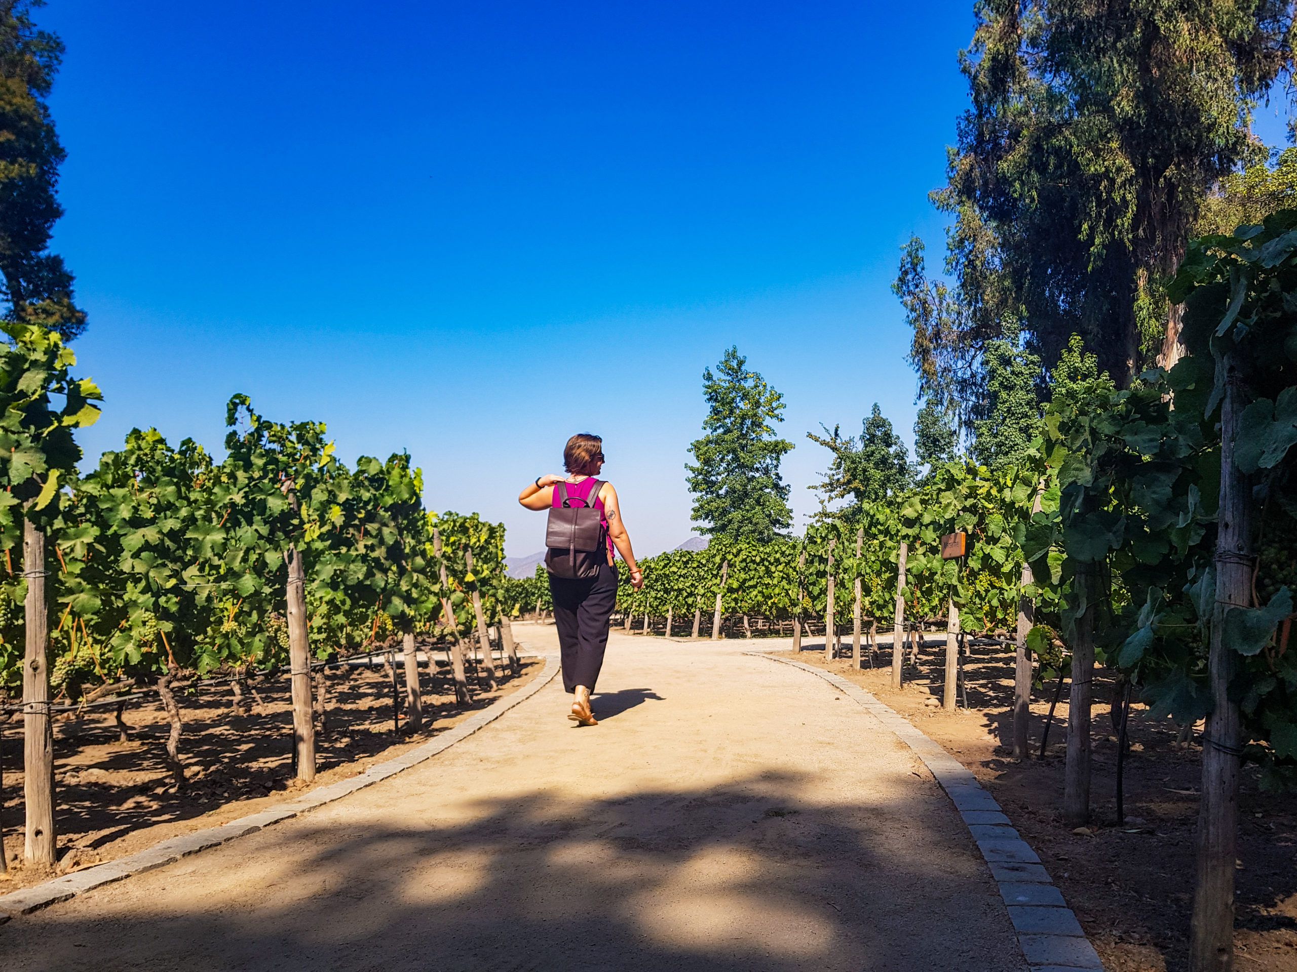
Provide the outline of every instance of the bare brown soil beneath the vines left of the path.
<path id="1" fill-rule="evenodd" d="M 442 654 L 436 651 L 433 657 Z M 233 709 L 228 686 L 206 686 L 176 693 L 184 722 L 180 758 L 185 785 L 178 792 L 166 758 L 170 723 L 162 704 L 144 700 L 126 712 L 130 741 L 118 741 L 114 710 L 65 713 L 54 721 L 54 785 L 57 800 L 57 868 L 23 867 L 22 719 L 0 723 L 0 827 L 8 876 L 0 893 L 25 888 L 83 867 L 134 854 L 162 840 L 215 827 L 296 798 L 303 789 L 355 776 L 375 761 L 392 758 L 425 743 L 527 684 L 543 662 L 524 660 L 518 677 L 497 666 L 495 691 L 479 688 L 470 674 L 473 700 L 455 704 L 449 667 L 429 678 L 424 669 L 423 730 L 406 732 L 405 675 L 398 658 L 402 700 L 401 731 L 393 726 L 392 678 L 377 667 L 340 667 L 328 674 L 326 732 L 316 718 L 316 778 L 294 780 L 292 704 L 287 678 L 254 680 L 250 712 Z M 258 701 L 258 697 L 261 701 Z"/>

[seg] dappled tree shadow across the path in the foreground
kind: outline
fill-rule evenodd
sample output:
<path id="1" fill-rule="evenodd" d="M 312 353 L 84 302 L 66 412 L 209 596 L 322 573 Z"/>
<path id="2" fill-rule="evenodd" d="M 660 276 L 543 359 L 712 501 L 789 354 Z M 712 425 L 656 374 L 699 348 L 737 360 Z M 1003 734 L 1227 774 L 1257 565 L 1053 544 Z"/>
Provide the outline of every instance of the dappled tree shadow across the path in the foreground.
<path id="1" fill-rule="evenodd" d="M 966 831 L 905 779 L 309 816 L 12 921 L 0 951 L 6 972 L 1025 972 Z"/>

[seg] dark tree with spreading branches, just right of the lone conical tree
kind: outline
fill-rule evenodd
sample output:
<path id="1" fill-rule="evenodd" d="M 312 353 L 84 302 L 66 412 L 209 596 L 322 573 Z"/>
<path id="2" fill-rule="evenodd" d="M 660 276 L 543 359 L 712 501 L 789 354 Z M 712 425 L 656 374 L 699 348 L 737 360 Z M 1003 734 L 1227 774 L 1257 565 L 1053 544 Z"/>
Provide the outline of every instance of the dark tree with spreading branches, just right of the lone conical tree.
<path id="1" fill-rule="evenodd" d="M 825 432 L 829 433 L 827 428 Z M 807 438 L 833 452 L 833 464 L 824 481 L 811 489 L 820 490 L 827 502 L 851 496 L 853 503 L 840 511 L 847 518 L 860 504 L 886 499 L 913 482 L 909 451 L 877 402 L 863 422 L 860 438 L 843 438 L 837 425 L 827 435 L 808 432 Z"/>

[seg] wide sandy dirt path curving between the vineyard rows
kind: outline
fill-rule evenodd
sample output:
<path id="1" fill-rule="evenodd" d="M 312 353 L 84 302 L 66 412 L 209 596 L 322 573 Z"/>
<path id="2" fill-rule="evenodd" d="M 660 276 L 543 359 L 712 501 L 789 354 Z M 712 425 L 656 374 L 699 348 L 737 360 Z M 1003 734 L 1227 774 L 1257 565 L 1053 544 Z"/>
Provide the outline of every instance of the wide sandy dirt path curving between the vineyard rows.
<path id="1" fill-rule="evenodd" d="M 599 727 L 555 680 L 390 780 L 0 927 L 4 967 L 1022 972 L 922 763 L 742 649 L 613 632 Z"/>

